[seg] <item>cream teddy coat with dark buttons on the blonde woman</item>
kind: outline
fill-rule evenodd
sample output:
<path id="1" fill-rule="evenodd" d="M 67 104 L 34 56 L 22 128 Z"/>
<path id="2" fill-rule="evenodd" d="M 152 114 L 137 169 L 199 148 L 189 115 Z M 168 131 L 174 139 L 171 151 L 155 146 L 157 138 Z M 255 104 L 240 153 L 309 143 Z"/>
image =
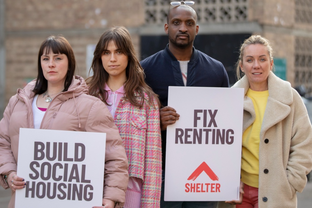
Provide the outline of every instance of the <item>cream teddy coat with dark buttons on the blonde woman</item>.
<path id="1" fill-rule="evenodd" d="M 234 88 L 249 89 L 246 76 Z M 312 126 L 300 95 L 270 72 L 269 97 L 260 131 L 259 208 L 297 207 L 312 168 Z M 243 132 L 255 121 L 251 99 L 244 96 Z M 219 202 L 218 207 L 235 207 Z"/>

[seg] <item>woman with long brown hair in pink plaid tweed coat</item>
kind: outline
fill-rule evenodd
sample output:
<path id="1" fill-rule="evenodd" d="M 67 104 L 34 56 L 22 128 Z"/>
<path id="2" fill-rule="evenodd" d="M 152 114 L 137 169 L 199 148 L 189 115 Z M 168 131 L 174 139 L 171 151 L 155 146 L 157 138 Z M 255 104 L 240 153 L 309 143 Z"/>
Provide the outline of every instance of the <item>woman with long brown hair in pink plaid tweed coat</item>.
<path id="1" fill-rule="evenodd" d="M 124 208 L 159 207 L 161 138 L 159 101 L 144 82 L 144 72 L 128 30 L 111 27 L 95 47 L 86 82 L 114 117 L 129 162 Z"/>

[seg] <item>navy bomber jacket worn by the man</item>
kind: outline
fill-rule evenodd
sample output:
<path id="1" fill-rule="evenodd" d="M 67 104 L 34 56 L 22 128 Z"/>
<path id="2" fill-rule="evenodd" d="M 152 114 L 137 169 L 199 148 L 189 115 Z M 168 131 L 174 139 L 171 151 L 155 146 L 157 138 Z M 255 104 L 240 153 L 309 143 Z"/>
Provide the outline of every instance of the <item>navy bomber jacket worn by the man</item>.
<path id="1" fill-rule="evenodd" d="M 168 105 L 169 86 L 184 86 L 180 64 L 169 51 L 168 45 L 164 50 L 159 51 L 140 62 L 144 69 L 145 82 L 156 94 L 159 95 L 162 107 Z M 229 87 L 229 79 L 221 62 L 209 57 L 193 47 L 193 55 L 188 62 L 186 86 Z M 161 137 L 164 170 L 166 131 L 161 132 Z"/>

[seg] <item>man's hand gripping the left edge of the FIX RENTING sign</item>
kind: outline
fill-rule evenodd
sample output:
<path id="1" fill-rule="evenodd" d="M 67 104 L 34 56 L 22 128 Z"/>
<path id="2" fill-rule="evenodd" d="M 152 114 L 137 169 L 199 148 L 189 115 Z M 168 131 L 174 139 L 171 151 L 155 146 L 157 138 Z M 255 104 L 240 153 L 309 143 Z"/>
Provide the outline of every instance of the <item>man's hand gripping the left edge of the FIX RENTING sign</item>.
<path id="1" fill-rule="evenodd" d="M 161 131 L 167 130 L 167 126 L 174 124 L 180 117 L 180 115 L 176 113 L 176 110 L 169 106 L 161 108 L 159 110 L 159 116 Z"/>

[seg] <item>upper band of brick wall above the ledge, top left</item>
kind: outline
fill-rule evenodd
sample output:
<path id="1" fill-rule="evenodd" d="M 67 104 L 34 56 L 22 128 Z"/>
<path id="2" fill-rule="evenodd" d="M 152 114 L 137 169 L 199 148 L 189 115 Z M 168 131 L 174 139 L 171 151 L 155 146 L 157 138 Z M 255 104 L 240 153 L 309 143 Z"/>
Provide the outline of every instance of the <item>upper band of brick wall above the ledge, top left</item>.
<path id="1" fill-rule="evenodd" d="M 105 28 L 143 24 L 141 0 L 23 0 L 6 1 L 8 31 Z M 131 15 L 130 15 L 131 14 Z"/>

